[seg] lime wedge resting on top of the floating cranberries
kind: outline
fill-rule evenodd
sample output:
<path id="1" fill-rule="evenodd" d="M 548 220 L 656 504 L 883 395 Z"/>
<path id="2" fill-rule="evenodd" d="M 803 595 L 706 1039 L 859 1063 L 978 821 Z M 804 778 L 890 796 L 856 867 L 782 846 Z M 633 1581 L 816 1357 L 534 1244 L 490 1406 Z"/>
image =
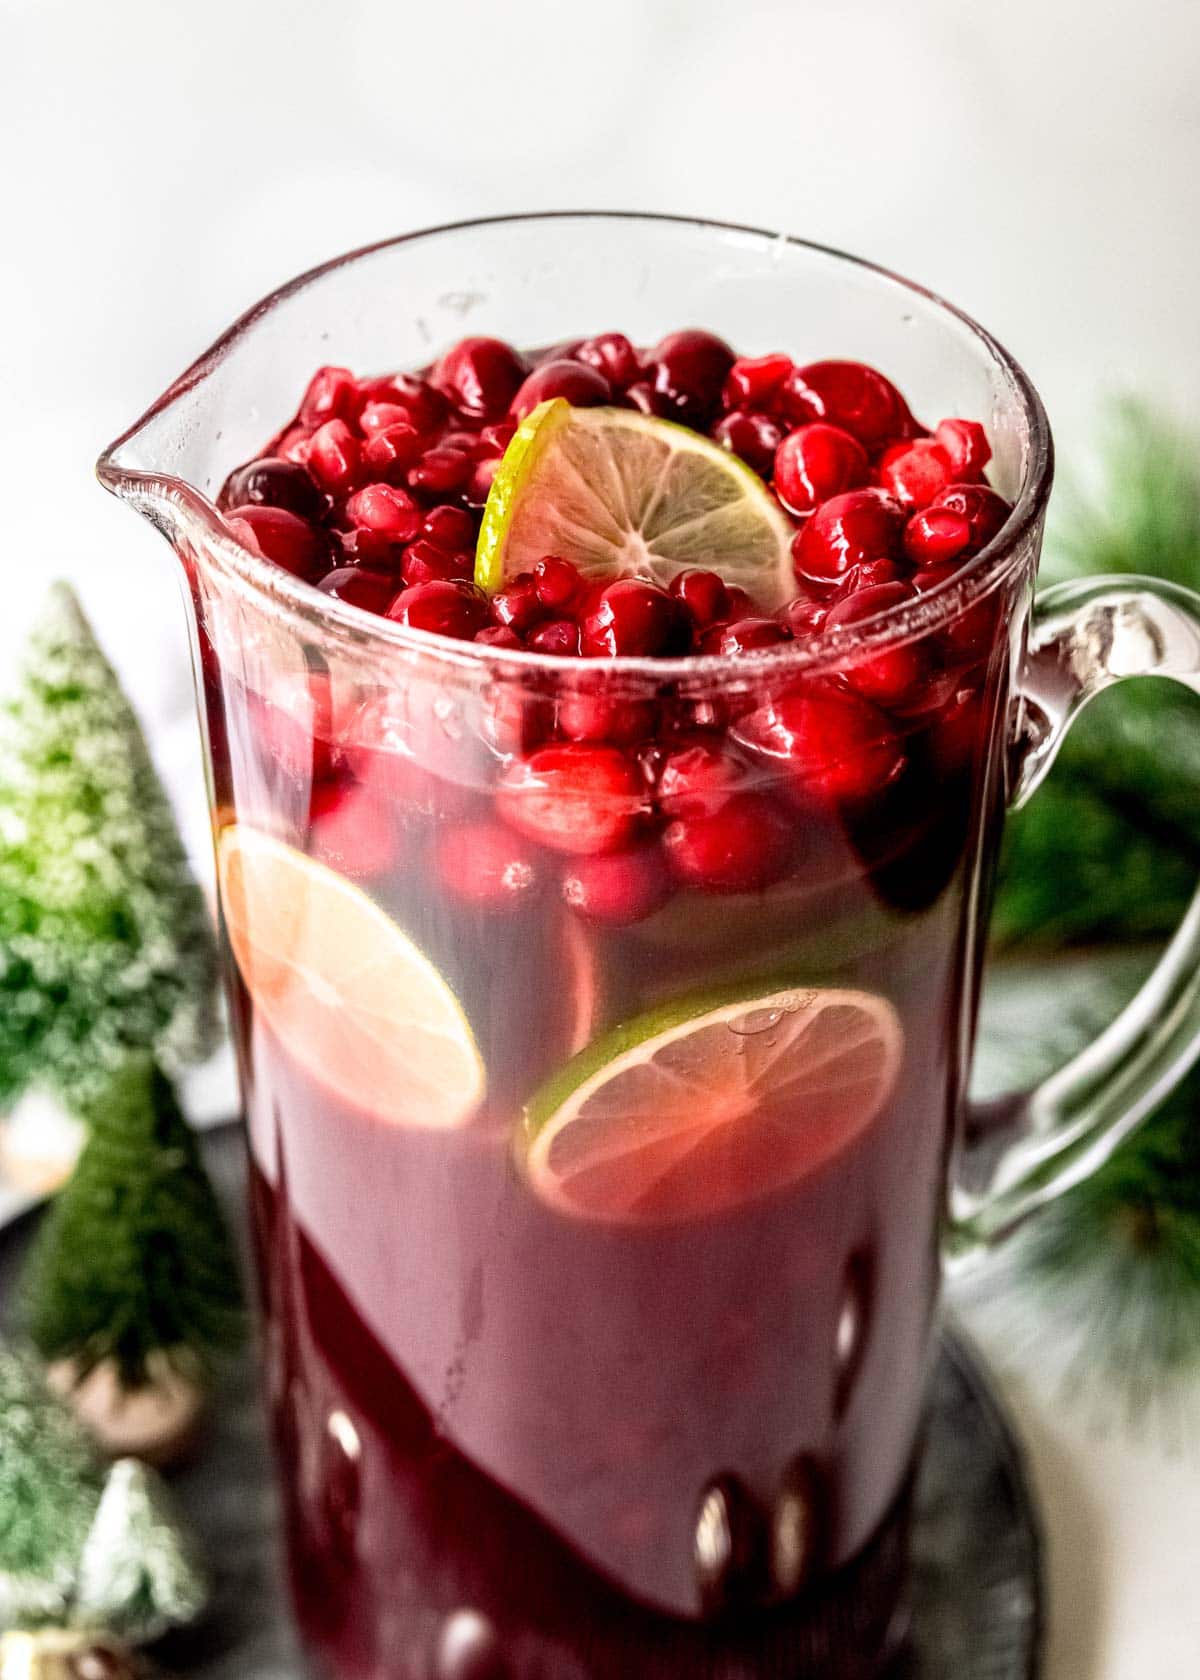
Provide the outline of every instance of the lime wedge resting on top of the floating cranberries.
<path id="1" fill-rule="evenodd" d="M 699 432 L 629 408 L 541 403 L 492 480 L 476 549 L 489 593 L 561 554 L 583 576 L 669 583 L 708 566 L 765 612 L 795 595 L 793 528 L 763 480 Z"/>

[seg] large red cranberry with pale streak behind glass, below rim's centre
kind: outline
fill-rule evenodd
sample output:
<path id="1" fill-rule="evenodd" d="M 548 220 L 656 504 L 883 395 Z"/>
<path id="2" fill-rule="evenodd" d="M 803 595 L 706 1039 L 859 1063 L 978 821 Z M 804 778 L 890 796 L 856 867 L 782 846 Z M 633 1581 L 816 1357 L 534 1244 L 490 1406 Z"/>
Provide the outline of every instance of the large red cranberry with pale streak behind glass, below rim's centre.
<path id="1" fill-rule="evenodd" d="M 496 806 L 523 835 L 555 852 L 617 852 L 642 813 L 642 778 L 615 748 L 568 741 L 509 766 Z"/>

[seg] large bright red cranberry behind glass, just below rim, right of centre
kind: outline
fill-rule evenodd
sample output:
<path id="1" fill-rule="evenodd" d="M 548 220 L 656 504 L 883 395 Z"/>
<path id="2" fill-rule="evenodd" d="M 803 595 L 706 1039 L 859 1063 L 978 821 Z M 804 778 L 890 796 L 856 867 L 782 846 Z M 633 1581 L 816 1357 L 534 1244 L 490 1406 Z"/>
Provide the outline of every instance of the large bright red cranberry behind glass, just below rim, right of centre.
<path id="1" fill-rule="evenodd" d="M 738 738 L 778 761 L 800 796 L 822 803 L 879 793 L 904 768 L 899 736 L 881 711 L 857 694 L 817 684 L 743 717 Z"/>

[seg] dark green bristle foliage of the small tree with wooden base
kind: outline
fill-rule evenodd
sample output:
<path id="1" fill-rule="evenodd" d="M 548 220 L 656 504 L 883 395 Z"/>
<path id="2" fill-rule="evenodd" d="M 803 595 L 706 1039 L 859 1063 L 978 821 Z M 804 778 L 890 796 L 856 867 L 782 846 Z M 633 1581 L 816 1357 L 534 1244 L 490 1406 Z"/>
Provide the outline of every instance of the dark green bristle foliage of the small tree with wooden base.
<path id="1" fill-rule="evenodd" d="M 240 1332 L 242 1292 L 195 1134 L 146 1053 L 126 1058 L 86 1121 L 27 1265 L 34 1346 L 77 1379 L 111 1362 L 126 1389 L 155 1381 L 163 1357 L 202 1379 Z"/>

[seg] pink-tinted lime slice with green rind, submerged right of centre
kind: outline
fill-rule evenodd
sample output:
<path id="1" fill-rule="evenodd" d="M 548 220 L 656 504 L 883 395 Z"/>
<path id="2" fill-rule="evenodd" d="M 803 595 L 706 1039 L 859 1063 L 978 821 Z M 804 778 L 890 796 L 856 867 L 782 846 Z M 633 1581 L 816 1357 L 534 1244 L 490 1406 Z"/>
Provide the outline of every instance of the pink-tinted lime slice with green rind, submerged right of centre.
<path id="1" fill-rule="evenodd" d="M 818 1171 L 876 1119 L 904 1032 L 886 998 L 692 998 L 590 1045 L 529 1102 L 524 1171 L 561 1213 L 711 1218 Z"/>

